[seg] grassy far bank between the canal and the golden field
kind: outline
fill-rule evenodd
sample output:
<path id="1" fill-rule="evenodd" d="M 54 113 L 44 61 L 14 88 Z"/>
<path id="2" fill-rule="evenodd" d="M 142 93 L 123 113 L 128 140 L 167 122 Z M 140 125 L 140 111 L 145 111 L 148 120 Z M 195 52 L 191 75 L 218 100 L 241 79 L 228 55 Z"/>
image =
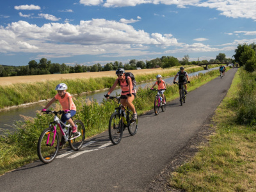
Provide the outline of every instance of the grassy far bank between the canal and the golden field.
<path id="1" fill-rule="evenodd" d="M 218 65 L 217 65 L 218 66 Z M 189 65 L 186 67 L 187 72 L 196 72 L 202 70 L 202 67 Z M 163 77 L 174 76 L 179 70 L 179 67 L 172 67 L 160 71 Z M 113 72 L 114 74 L 115 72 Z M 143 73 L 143 70 L 141 70 Z M 155 79 L 157 72 L 150 74 L 136 75 L 138 83 Z M 58 81 L 43 81 L 36 83 L 16 83 L 12 85 L 0 86 L 0 109 L 9 106 L 18 106 L 29 102 L 37 102 L 38 100 L 51 99 L 56 95 L 54 90 L 59 83 L 66 83 L 68 85 L 68 92 L 72 94 L 80 94 L 84 92 L 93 92 L 95 90 L 102 90 L 110 88 L 115 81 L 114 77 L 97 77 L 90 79 L 61 79 Z"/>

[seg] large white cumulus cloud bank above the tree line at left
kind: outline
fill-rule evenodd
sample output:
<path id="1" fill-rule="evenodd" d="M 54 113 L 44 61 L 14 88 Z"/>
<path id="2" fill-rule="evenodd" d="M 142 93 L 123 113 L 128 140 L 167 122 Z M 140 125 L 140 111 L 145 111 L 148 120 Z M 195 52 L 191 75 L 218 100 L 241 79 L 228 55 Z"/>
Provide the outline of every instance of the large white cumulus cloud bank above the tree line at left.
<path id="1" fill-rule="evenodd" d="M 149 46 L 179 45 L 171 34 L 150 34 L 106 19 L 81 20 L 78 25 L 52 22 L 43 26 L 20 20 L 5 28 L 0 26 L 0 39 L 7 43 L 4 48 L 0 46 L 0 52 L 45 52 L 51 58 L 79 54 L 137 56 L 153 54 L 147 51 Z"/>

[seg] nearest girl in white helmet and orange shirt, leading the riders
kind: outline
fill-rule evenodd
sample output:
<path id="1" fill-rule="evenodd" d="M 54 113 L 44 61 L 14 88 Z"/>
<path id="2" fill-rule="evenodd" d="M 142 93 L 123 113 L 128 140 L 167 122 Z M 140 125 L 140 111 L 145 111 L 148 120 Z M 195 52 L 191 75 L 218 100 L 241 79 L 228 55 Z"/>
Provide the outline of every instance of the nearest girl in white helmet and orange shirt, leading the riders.
<path id="1" fill-rule="evenodd" d="M 60 83 L 56 86 L 55 90 L 58 91 L 58 93 L 52 98 L 52 100 L 49 101 L 49 103 L 45 106 L 44 109 L 42 109 L 42 112 L 46 111 L 49 106 L 56 100 L 60 101 L 60 104 L 62 106 L 62 109 L 64 113 L 61 116 L 61 122 L 64 124 L 68 122 L 72 126 L 72 132 L 75 136 L 78 135 L 77 132 L 77 126 L 74 124 L 72 120 L 72 116 L 76 115 L 76 105 L 74 104 L 72 97 L 70 93 L 68 93 L 66 90 L 68 89 L 67 84 Z M 60 138 L 62 138 L 62 132 L 60 131 Z M 64 143 L 60 143 L 60 147 L 62 147 Z"/>

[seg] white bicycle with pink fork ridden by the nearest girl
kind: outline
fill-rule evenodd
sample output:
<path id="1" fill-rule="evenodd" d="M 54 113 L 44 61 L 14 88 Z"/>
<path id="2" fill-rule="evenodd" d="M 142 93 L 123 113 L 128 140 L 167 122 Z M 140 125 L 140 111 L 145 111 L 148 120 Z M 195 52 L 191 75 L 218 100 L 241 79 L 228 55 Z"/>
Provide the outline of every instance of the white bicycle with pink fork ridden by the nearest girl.
<path id="1" fill-rule="evenodd" d="M 74 124 L 77 125 L 78 132 L 78 135 L 74 135 L 72 132 L 72 126 L 64 124 L 58 117 L 58 115 L 63 114 L 64 111 L 47 110 L 44 112 L 44 114 L 52 113 L 54 114 L 54 120 L 49 124 L 49 127 L 42 132 L 37 143 L 38 157 L 45 164 L 51 163 L 55 159 L 60 148 L 60 138 L 57 131 L 57 125 L 63 134 L 61 143 L 64 144 L 68 141 L 72 150 L 79 150 L 82 147 L 85 138 L 84 124 L 81 120 L 74 120 Z"/>

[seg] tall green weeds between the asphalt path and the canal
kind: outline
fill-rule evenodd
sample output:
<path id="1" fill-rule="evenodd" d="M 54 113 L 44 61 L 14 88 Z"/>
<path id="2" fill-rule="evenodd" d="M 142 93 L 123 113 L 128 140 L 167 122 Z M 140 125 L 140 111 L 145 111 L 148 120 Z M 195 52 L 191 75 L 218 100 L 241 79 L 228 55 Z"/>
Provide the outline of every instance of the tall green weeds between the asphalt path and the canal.
<path id="1" fill-rule="evenodd" d="M 200 74 L 191 79 L 188 90 L 205 84 L 216 76 L 218 70 Z M 177 86 L 168 86 L 166 92 L 166 100 L 170 101 L 179 97 L 179 89 Z M 155 93 L 149 88 L 139 89 L 138 97 L 134 100 L 134 105 L 139 114 L 145 113 L 154 106 Z M 115 101 L 102 100 L 102 103 L 80 99 L 74 99 L 77 106 L 77 115 L 75 118 L 84 122 L 86 128 L 86 138 L 108 129 L 109 116 L 113 113 L 116 103 Z M 60 105 L 56 106 L 56 110 L 60 109 Z M 25 117 L 25 122 L 17 122 L 14 133 L 8 131 L 0 136 L 0 175 L 18 168 L 24 164 L 31 163 L 38 159 L 36 155 L 36 145 L 41 132 L 52 121 L 52 116 L 41 115 L 38 111 L 36 118 Z"/>

